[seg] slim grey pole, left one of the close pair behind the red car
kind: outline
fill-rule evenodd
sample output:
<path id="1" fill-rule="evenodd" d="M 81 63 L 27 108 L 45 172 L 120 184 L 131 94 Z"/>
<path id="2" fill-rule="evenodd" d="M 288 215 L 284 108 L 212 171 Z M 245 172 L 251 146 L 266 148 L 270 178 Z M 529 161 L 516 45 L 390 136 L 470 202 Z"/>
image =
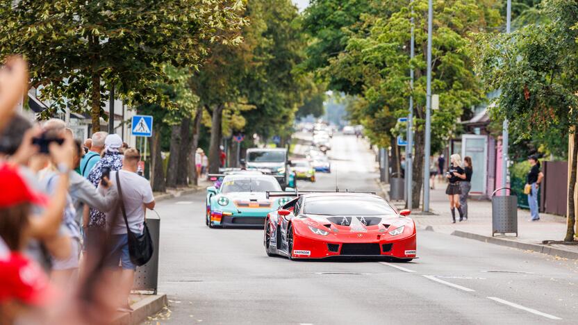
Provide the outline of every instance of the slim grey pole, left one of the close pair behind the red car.
<path id="1" fill-rule="evenodd" d="M 411 8 L 411 41 L 409 44 L 409 58 L 413 60 L 415 53 L 414 26 L 413 26 L 413 6 Z M 409 88 L 413 92 L 413 67 L 409 68 Z M 409 94 L 409 114 L 407 117 L 407 147 L 406 147 L 406 178 L 407 178 L 407 208 L 411 209 L 413 200 L 413 94 Z"/>

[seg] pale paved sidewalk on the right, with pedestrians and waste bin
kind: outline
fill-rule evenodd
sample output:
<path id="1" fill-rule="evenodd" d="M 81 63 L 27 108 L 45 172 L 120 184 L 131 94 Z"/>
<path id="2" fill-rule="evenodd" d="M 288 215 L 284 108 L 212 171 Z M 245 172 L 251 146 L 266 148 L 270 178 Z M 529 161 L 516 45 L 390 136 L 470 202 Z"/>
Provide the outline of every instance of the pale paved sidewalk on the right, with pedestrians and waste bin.
<path id="1" fill-rule="evenodd" d="M 379 182 L 378 182 L 379 183 Z M 379 183 L 381 190 L 389 197 L 389 185 Z M 445 194 L 446 183 L 436 181 L 436 189 L 430 190 L 431 214 L 416 211 L 411 217 L 418 228 L 456 235 L 463 238 L 481 240 L 492 244 L 547 253 L 562 258 L 578 259 L 578 245 L 543 244 L 545 240 L 563 240 L 566 233 L 566 218 L 540 213 L 540 221 L 529 222 L 529 210 L 518 209 L 518 237 L 496 235 L 492 237 L 492 203 L 486 200 L 468 200 L 468 221 L 452 224 L 449 201 Z M 397 208 L 404 208 L 404 201 L 393 201 Z M 456 219 L 459 213 L 456 211 Z"/>

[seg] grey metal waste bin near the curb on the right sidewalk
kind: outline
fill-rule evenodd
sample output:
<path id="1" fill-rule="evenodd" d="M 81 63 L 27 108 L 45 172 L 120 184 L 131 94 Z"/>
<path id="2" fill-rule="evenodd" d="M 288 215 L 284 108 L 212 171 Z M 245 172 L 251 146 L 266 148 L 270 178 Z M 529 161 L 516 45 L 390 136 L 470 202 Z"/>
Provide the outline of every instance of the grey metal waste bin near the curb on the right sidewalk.
<path id="1" fill-rule="evenodd" d="M 510 190 L 510 195 L 497 197 L 500 190 Z M 498 188 L 492 193 L 492 237 L 497 233 L 515 233 L 518 237 L 518 197 L 511 188 Z"/>

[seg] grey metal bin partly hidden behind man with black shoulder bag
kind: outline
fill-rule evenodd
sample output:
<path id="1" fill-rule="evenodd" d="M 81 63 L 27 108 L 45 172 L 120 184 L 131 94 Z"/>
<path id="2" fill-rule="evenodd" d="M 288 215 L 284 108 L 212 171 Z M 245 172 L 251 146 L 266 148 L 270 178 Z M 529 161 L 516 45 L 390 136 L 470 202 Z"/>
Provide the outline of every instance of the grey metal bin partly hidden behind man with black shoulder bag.
<path id="1" fill-rule="evenodd" d="M 156 212 L 156 211 L 155 211 Z M 133 290 L 149 291 L 156 294 L 158 287 L 158 251 L 160 235 L 160 217 L 156 215 L 147 216 L 147 226 L 153 240 L 154 252 L 151 260 L 147 264 L 136 268 Z"/>

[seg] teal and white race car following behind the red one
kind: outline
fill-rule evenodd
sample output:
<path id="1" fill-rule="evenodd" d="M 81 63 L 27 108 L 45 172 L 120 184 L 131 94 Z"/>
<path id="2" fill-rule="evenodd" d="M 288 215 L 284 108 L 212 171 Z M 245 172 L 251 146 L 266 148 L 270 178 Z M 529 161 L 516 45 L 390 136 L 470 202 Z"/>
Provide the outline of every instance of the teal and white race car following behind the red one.
<path id="1" fill-rule="evenodd" d="M 262 227 L 267 214 L 290 199 L 267 199 L 267 191 L 281 191 L 274 176 L 258 173 L 224 175 L 219 188 L 207 188 L 205 224 L 210 228 Z M 286 188 L 286 191 L 294 190 Z"/>

